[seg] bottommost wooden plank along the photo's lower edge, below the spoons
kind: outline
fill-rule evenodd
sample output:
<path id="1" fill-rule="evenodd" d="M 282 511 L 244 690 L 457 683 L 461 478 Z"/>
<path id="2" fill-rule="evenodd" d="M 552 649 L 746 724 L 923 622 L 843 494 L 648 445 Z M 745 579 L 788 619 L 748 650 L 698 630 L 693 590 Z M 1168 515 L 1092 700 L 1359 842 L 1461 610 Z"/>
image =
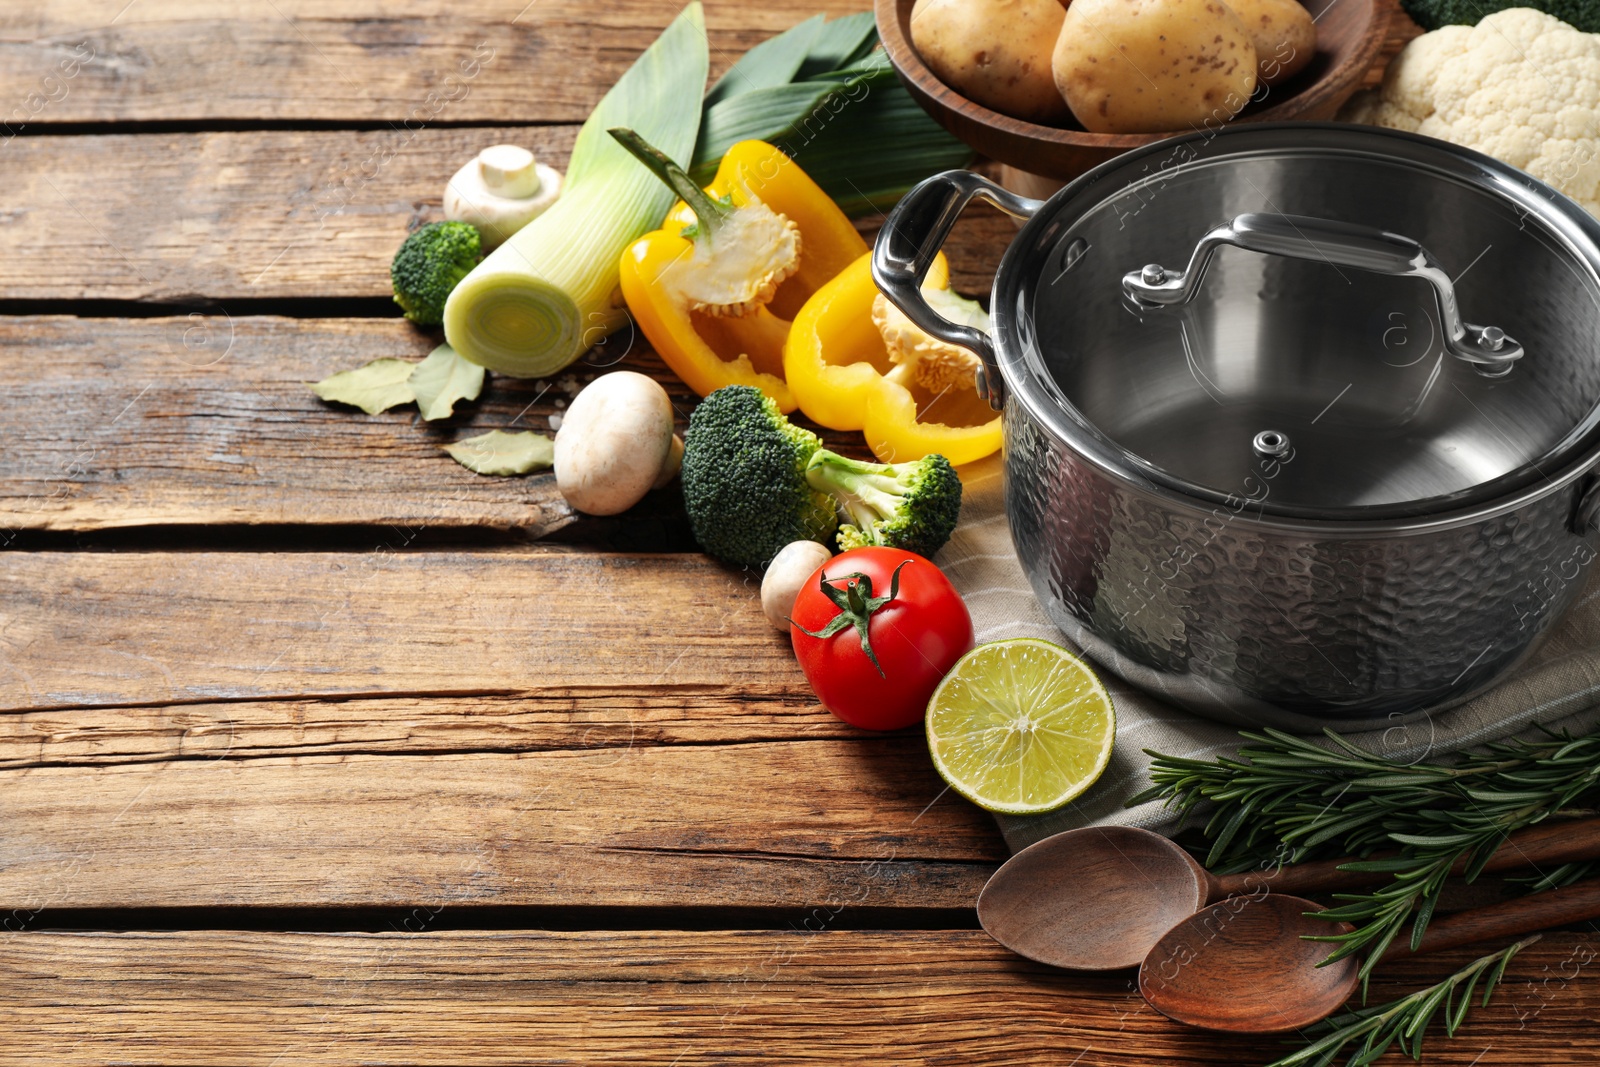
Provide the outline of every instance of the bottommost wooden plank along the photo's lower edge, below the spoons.
<path id="1" fill-rule="evenodd" d="M 838 931 L 830 917 L 797 913 L 789 933 L 21 934 L 0 953 L 0 1057 L 1237 1067 L 1293 1048 L 1179 1027 L 1125 974 L 1051 971 L 978 931 Z M 1427 1062 L 1594 1062 L 1595 950 L 1547 936 L 1454 1040 L 1429 1035 Z M 1402 963 L 1373 995 L 1469 955 Z"/>

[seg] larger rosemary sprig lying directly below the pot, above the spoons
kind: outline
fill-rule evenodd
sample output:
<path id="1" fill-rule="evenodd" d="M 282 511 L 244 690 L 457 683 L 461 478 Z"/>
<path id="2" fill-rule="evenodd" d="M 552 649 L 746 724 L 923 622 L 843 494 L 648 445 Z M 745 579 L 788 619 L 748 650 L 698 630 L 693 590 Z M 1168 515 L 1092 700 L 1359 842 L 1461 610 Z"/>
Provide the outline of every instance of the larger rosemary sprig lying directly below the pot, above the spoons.
<path id="1" fill-rule="evenodd" d="M 1333 731 L 1328 745 L 1277 729 L 1242 736 L 1251 744 L 1234 758 L 1150 752 L 1154 785 L 1128 803 L 1165 800 L 1184 816 L 1211 805 L 1206 865 L 1221 872 L 1398 846 L 1397 856 L 1347 864 L 1387 872 L 1387 883 L 1338 894 L 1339 907 L 1318 912 L 1354 925 L 1322 941 L 1338 944 L 1328 961 L 1365 953 L 1363 982 L 1408 920 L 1411 947 L 1421 942 L 1456 861 L 1466 857 L 1472 880 L 1507 833 L 1600 798 L 1600 733 L 1547 731 L 1450 763 L 1413 765 L 1384 760 Z"/>

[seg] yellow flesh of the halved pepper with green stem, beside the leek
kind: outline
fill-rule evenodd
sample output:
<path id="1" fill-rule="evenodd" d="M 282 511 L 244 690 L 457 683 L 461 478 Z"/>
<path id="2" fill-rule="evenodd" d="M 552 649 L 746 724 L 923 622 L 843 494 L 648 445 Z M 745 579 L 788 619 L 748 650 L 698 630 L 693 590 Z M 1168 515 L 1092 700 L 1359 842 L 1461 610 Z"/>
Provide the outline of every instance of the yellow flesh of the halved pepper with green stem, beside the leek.
<path id="1" fill-rule="evenodd" d="M 758 200 L 790 219 L 800 229 L 795 274 L 771 302 L 742 318 L 691 312 L 662 285 L 667 267 L 694 251 L 693 240 L 682 235 L 694 224 L 694 213 L 680 202 L 659 230 L 622 253 L 627 309 L 666 365 L 701 397 L 723 386 L 754 386 L 784 413 L 794 411 L 794 394 L 784 384 L 789 323 L 818 288 L 867 251 L 867 243 L 827 194 L 765 141 L 728 149 L 706 192 L 731 197 L 734 206 Z"/>

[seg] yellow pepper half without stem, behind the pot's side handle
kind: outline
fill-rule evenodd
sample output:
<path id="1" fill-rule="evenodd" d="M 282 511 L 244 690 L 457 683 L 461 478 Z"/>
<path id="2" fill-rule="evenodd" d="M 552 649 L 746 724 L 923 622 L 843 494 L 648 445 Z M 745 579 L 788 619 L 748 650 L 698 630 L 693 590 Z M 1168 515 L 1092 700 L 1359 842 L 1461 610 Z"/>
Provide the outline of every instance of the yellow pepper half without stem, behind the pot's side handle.
<path id="1" fill-rule="evenodd" d="M 944 254 L 923 288 L 949 288 Z M 1000 413 L 973 389 L 933 392 L 886 374 L 894 368 L 872 320 L 870 253 L 816 291 L 784 346 L 784 378 L 806 416 L 834 430 L 862 430 L 880 462 L 939 453 L 955 466 L 1000 450 Z"/>

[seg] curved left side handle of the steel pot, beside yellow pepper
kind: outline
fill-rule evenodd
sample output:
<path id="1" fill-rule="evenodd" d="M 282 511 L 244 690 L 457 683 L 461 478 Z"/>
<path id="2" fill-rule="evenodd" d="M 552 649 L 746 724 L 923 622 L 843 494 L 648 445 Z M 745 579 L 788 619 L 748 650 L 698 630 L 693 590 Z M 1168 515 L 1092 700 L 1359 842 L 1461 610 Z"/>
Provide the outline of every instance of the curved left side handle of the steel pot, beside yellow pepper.
<path id="1" fill-rule="evenodd" d="M 950 235 L 950 227 L 973 198 L 987 200 L 1006 214 L 1027 219 L 1043 205 L 1002 189 L 971 171 L 944 171 L 920 182 L 890 211 L 872 248 L 872 280 L 891 304 L 906 312 L 920 330 L 939 341 L 960 346 L 984 362 L 978 374 L 978 395 L 998 411 L 1005 386 L 995 360 L 994 341 L 982 330 L 962 326 L 928 306 L 922 282 Z"/>

